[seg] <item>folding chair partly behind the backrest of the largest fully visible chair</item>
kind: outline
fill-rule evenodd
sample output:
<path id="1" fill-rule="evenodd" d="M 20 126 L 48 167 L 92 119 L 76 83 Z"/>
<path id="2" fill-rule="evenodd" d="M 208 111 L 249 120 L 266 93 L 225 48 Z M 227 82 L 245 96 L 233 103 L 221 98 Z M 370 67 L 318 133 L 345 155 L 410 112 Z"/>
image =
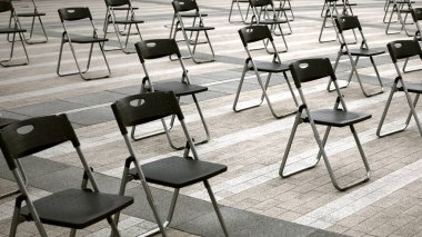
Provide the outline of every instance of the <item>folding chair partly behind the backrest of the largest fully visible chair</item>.
<path id="1" fill-rule="evenodd" d="M 359 22 L 359 19 L 358 19 L 356 16 L 341 16 L 341 17 L 338 17 L 338 18 L 335 18 L 335 24 L 336 24 L 338 31 L 340 33 L 340 37 L 341 37 L 341 40 L 340 40 L 341 46 L 340 46 L 340 50 L 339 50 L 339 53 L 338 53 L 338 57 L 336 57 L 336 60 L 335 60 L 334 71 L 336 70 L 336 67 L 339 66 L 340 58 L 342 56 L 348 56 L 349 60 L 350 60 L 350 63 L 352 65 L 352 71 L 349 75 L 348 82 L 342 88 L 345 88 L 345 87 L 349 86 L 350 81 L 352 80 L 353 73 L 355 73 L 358 82 L 359 82 L 359 86 L 360 86 L 360 88 L 361 88 L 361 90 L 362 90 L 362 92 L 363 92 L 363 95 L 365 97 L 372 97 L 372 96 L 382 93 L 384 91 L 384 89 L 383 89 L 383 85 L 382 85 L 382 81 L 381 81 L 380 73 L 378 72 L 375 62 L 373 60 L 373 57 L 382 55 L 385 51 L 371 50 L 368 47 L 366 39 L 363 36 L 362 27 L 361 27 L 361 23 Z M 360 34 L 361 34 L 361 38 L 362 38 L 361 46 L 358 49 L 351 49 L 350 46 L 348 45 L 348 42 L 345 41 L 345 37 L 344 37 L 344 31 L 353 30 L 353 29 L 358 29 L 359 32 L 360 32 Z M 356 57 L 355 60 L 353 60 L 353 57 Z M 358 68 L 356 68 L 359 59 L 361 57 L 368 57 L 368 58 L 370 58 L 372 67 L 373 67 L 373 69 L 375 71 L 375 73 L 376 73 L 376 79 L 378 79 L 378 81 L 380 83 L 380 88 L 381 88 L 380 91 L 376 91 L 376 92 L 373 92 L 373 93 L 368 93 L 364 90 L 362 81 L 361 81 L 361 78 L 360 78 L 360 76 L 358 73 Z M 329 91 L 331 91 L 330 86 L 331 86 L 331 81 L 329 82 L 329 85 L 326 87 L 326 89 Z"/>

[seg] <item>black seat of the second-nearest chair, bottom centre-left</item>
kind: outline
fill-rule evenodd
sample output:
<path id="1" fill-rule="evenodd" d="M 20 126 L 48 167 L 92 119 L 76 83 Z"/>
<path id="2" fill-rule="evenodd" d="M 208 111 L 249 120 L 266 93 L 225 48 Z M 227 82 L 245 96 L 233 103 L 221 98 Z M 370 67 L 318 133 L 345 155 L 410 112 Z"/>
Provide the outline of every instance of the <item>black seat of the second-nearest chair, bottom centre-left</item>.
<path id="1" fill-rule="evenodd" d="M 175 156 L 142 165 L 147 181 L 172 188 L 182 188 L 204 181 L 227 169 L 228 167 L 224 165 Z M 139 178 L 134 168 L 130 169 L 129 174 L 135 179 Z"/>

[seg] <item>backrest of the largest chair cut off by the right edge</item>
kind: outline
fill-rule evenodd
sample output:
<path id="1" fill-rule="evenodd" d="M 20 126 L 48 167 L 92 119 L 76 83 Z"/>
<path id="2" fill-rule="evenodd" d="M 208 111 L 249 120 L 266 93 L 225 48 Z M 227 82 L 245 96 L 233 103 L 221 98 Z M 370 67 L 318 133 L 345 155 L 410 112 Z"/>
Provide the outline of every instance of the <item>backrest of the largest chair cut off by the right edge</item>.
<path id="1" fill-rule="evenodd" d="M 422 59 L 422 50 L 416 40 L 396 40 L 386 45 L 391 60 L 395 63 L 399 59 L 419 56 Z"/>

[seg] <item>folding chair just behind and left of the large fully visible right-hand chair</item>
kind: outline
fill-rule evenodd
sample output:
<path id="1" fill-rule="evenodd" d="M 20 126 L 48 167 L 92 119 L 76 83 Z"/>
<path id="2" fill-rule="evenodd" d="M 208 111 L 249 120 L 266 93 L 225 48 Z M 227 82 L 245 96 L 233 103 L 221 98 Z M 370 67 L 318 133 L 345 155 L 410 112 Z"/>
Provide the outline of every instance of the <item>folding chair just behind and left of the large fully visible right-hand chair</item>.
<path id="1" fill-rule="evenodd" d="M 289 112 L 285 115 L 277 115 L 274 109 L 272 108 L 270 97 L 267 93 L 267 89 L 268 89 L 268 86 L 270 83 L 270 79 L 271 79 L 272 73 L 280 73 L 281 72 L 281 73 L 283 73 L 285 82 L 289 86 L 289 90 L 292 95 L 292 98 L 294 100 L 295 106 L 297 107 L 299 106 L 298 100 L 297 100 L 294 92 L 292 90 L 292 86 L 290 85 L 289 78 L 285 73 L 287 71 L 289 71 L 289 67 L 281 63 L 281 59 L 280 59 L 279 53 L 277 53 L 275 45 L 273 42 L 270 29 L 267 26 L 262 26 L 262 24 L 244 27 L 244 28 L 239 30 L 239 36 L 240 36 L 240 39 L 242 40 L 244 49 L 247 50 L 248 58 L 244 61 L 242 77 L 240 78 L 240 81 L 239 81 L 238 92 L 235 95 L 234 102 L 233 102 L 233 110 L 235 112 L 239 112 L 242 110 L 259 107 L 262 105 L 262 102 L 265 99 L 268 106 L 270 107 L 271 113 L 275 118 L 283 118 L 285 116 L 293 115 L 295 112 L 295 110 L 293 112 Z M 271 42 L 271 46 L 275 52 L 271 62 L 269 62 L 269 61 L 255 61 L 252 59 L 251 52 L 248 48 L 248 43 L 255 42 L 259 40 L 269 40 Z M 254 71 L 257 75 L 257 80 L 258 80 L 258 82 L 262 89 L 261 101 L 258 105 L 245 107 L 242 109 L 238 109 L 237 106 L 238 106 L 238 101 L 239 101 L 239 96 L 240 96 L 240 92 L 242 90 L 244 77 L 245 77 L 248 71 Z M 267 72 L 268 73 L 265 83 L 263 83 L 260 72 Z"/>

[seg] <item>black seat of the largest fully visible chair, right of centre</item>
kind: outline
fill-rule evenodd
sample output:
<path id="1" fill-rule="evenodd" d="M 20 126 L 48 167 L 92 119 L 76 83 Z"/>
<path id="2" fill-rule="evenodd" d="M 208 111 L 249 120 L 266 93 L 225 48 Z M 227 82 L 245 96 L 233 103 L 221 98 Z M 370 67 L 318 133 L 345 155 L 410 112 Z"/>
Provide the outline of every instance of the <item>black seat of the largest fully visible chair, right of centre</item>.
<path id="1" fill-rule="evenodd" d="M 369 113 L 351 112 L 334 109 L 321 109 L 316 111 L 311 111 L 311 116 L 316 125 L 325 125 L 333 127 L 344 127 L 354 125 L 370 119 L 372 117 L 372 115 Z M 303 113 L 302 118 L 304 121 L 309 122 L 309 119 L 305 113 Z"/>

